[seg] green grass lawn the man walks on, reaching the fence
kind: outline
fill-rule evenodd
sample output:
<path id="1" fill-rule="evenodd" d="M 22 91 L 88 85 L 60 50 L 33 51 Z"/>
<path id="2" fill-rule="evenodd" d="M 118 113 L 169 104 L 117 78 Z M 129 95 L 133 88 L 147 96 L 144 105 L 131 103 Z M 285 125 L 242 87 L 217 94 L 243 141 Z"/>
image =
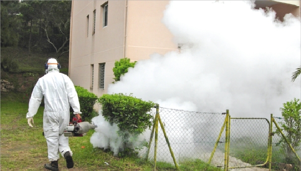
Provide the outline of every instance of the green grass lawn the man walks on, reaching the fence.
<path id="1" fill-rule="evenodd" d="M 43 110 L 40 106 L 34 116 L 34 127 L 27 124 L 28 102 L 18 94 L 1 93 L 1 170 L 47 170 L 43 166 L 47 158 L 46 139 L 43 132 Z M 154 163 L 138 157 L 114 156 L 110 150 L 93 148 L 90 130 L 84 137 L 70 137 L 74 167 L 67 169 L 62 156 L 59 170 L 154 170 Z M 105 162 L 108 162 L 107 165 Z M 201 160 L 178 163 L 180 170 L 220 170 Z M 157 170 L 176 170 L 173 164 L 157 162 Z"/>

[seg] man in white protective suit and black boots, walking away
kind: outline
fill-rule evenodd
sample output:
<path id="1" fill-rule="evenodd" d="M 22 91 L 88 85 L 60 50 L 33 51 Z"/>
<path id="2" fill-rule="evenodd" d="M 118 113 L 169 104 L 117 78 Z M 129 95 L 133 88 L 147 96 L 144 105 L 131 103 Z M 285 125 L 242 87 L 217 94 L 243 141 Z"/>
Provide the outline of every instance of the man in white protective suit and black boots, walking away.
<path id="1" fill-rule="evenodd" d="M 39 78 L 33 89 L 26 115 L 29 126 L 33 127 L 33 116 L 44 96 L 43 130 L 48 146 L 48 159 L 51 161 L 44 167 L 50 170 L 58 170 L 59 152 L 66 159 L 67 168 L 73 167 L 68 137 L 63 134 L 69 124 L 70 106 L 74 115 L 81 118 L 79 98 L 73 82 L 67 75 L 59 73 L 59 68 L 57 59 L 47 59 L 46 74 Z"/>

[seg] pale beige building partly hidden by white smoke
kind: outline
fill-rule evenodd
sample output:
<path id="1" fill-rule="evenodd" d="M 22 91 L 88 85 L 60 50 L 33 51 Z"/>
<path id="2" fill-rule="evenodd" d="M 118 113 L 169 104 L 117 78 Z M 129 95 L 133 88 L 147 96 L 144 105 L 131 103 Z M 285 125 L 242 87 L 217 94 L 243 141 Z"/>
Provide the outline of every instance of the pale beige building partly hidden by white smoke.
<path id="1" fill-rule="evenodd" d="M 256 1 L 277 17 L 300 16 L 300 1 Z M 116 60 L 148 59 L 150 54 L 179 50 L 161 22 L 169 1 L 72 1 L 69 77 L 74 85 L 102 96 L 114 81 Z"/>

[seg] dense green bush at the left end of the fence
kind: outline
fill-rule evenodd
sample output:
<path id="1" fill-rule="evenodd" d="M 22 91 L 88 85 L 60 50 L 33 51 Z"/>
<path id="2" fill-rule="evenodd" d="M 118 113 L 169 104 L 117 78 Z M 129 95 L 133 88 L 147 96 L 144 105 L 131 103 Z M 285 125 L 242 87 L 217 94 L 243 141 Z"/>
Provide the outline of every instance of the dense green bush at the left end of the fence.
<path id="1" fill-rule="evenodd" d="M 148 113 L 155 106 L 153 102 L 145 102 L 122 93 L 103 95 L 98 102 L 102 105 L 103 117 L 111 124 L 117 124 L 118 135 L 124 140 L 129 134 L 137 136 L 153 125 L 153 115 Z"/>

